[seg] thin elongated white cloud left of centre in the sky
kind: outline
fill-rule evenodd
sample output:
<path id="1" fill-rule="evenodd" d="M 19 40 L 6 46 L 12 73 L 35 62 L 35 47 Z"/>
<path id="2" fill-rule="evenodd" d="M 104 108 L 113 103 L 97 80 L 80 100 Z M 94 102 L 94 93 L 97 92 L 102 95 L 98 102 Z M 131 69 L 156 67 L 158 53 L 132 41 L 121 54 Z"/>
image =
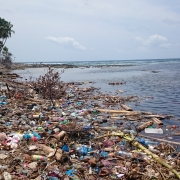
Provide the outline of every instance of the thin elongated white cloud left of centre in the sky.
<path id="1" fill-rule="evenodd" d="M 79 49 L 79 50 L 86 50 L 86 47 L 81 45 L 79 42 L 75 41 L 73 38 L 70 37 L 46 37 L 47 40 L 54 42 L 56 44 L 62 45 L 64 48 L 71 48 L 71 49 Z"/>

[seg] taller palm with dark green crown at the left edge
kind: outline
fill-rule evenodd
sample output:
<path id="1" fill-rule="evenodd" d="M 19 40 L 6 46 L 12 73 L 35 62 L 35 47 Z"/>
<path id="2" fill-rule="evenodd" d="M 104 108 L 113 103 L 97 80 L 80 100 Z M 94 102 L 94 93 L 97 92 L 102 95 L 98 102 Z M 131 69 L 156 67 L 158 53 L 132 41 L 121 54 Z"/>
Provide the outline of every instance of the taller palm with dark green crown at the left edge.
<path id="1" fill-rule="evenodd" d="M 5 19 L 0 18 L 0 53 L 6 43 L 7 38 L 11 37 L 14 33 L 12 30 L 13 25 Z"/>

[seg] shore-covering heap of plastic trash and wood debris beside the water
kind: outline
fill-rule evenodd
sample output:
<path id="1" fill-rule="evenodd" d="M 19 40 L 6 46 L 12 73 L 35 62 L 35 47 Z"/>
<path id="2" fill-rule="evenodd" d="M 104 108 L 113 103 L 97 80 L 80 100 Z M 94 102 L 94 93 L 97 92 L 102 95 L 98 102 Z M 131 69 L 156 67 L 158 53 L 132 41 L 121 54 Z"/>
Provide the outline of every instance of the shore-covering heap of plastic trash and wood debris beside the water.
<path id="1" fill-rule="evenodd" d="M 163 134 L 171 116 L 133 111 L 125 104 L 136 96 L 81 85 L 48 99 L 32 82 L 1 82 L 0 179 L 180 179 L 180 144 L 143 137 Z"/>

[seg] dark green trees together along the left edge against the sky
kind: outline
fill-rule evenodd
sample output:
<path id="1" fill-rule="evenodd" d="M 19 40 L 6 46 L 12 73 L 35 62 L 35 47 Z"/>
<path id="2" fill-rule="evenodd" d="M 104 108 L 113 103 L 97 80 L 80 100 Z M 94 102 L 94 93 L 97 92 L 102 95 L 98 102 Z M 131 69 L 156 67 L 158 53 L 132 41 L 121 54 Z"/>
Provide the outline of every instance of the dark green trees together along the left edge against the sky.
<path id="1" fill-rule="evenodd" d="M 0 67 L 11 69 L 12 67 L 12 53 L 5 46 L 8 38 L 11 37 L 13 33 L 13 25 L 0 17 Z"/>

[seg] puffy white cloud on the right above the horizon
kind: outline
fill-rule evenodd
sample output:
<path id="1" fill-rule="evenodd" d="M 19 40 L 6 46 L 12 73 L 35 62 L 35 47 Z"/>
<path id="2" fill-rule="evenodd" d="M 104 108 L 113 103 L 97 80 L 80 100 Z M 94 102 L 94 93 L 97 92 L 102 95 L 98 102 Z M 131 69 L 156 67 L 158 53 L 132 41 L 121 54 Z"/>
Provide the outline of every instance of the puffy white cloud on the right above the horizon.
<path id="1" fill-rule="evenodd" d="M 161 48 L 169 48 L 171 46 L 166 37 L 158 34 L 149 36 L 147 39 L 143 39 L 142 37 L 135 37 L 135 39 L 146 47 L 155 46 Z"/>

